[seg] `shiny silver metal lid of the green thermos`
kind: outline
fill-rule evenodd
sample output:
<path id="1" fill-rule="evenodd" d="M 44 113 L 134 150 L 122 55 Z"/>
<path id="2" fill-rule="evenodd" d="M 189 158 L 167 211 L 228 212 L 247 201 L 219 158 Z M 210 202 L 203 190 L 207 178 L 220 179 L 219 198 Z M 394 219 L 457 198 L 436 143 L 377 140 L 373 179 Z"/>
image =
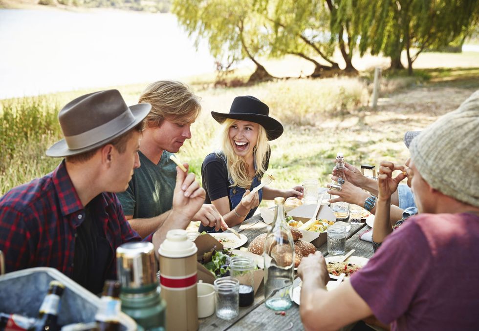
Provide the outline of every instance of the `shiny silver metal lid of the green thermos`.
<path id="1" fill-rule="evenodd" d="M 156 285 L 157 268 L 152 243 L 133 242 L 116 248 L 116 266 L 124 289 Z"/>

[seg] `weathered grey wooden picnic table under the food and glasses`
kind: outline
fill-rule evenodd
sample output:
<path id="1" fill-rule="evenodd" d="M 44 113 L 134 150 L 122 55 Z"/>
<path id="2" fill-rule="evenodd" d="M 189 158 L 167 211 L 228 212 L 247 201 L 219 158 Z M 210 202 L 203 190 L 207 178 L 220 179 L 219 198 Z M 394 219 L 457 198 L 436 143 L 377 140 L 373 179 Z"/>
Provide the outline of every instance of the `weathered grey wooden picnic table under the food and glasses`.
<path id="1" fill-rule="evenodd" d="M 254 238 L 267 232 L 267 225 L 262 221 L 259 214 L 233 228 L 248 237 L 245 247 L 248 247 Z M 347 252 L 354 248 L 356 249 L 354 256 L 370 258 L 373 255 L 372 244 L 359 239 L 359 234 L 368 229 L 370 227 L 366 223 L 351 226 L 346 241 Z M 327 243 L 319 247 L 318 250 L 324 256 L 327 256 Z M 295 274 L 293 288 L 298 286 L 300 281 L 301 279 Z M 240 307 L 240 313 L 236 318 L 226 321 L 213 314 L 210 317 L 199 319 L 199 330 L 304 330 L 297 304 L 293 303 L 293 306 L 285 312 L 286 315 L 282 316 L 264 305 L 264 285 L 261 284 L 255 294 L 253 304 L 249 307 Z"/>

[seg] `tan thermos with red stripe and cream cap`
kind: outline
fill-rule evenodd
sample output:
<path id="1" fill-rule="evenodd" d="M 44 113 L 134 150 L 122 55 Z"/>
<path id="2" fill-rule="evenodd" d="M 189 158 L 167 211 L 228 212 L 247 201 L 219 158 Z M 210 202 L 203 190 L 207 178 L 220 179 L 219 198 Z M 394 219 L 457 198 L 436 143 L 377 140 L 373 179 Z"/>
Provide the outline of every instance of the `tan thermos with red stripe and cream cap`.
<path id="1" fill-rule="evenodd" d="M 158 249 L 161 297 L 166 301 L 167 330 L 198 330 L 195 243 L 186 230 L 168 231 Z"/>

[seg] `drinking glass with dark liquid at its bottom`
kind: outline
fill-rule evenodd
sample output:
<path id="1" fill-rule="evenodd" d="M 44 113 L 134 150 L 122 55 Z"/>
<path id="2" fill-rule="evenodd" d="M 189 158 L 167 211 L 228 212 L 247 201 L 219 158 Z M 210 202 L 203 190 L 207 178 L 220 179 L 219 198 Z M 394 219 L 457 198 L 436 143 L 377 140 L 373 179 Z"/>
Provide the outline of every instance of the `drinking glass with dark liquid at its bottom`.
<path id="1" fill-rule="evenodd" d="M 255 301 L 255 266 L 253 259 L 247 256 L 231 258 L 231 277 L 240 281 L 240 307 L 247 307 Z"/>

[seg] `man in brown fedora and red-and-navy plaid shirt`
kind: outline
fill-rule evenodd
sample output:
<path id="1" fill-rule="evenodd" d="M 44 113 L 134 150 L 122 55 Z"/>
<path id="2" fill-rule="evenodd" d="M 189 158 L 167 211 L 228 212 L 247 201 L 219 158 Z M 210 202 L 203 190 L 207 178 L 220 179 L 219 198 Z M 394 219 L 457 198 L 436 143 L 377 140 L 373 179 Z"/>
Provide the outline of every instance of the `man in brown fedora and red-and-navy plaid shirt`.
<path id="1" fill-rule="evenodd" d="M 93 293 L 116 279 L 115 250 L 140 241 L 114 192 L 140 166 L 139 140 L 149 103 L 128 107 L 117 90 L 81 96 L 59 113 L 65 139 L 46 151 L 65 159 L 53 172 L 0 198 L 0 249 L 6 271 L 60 270 Z M 171 228 L 186 228 L 205 192 L 178 169 L 173 209 L 152 235 L 156 248 Z M 180 209 L 181 212 L 177 212 Z"/>

